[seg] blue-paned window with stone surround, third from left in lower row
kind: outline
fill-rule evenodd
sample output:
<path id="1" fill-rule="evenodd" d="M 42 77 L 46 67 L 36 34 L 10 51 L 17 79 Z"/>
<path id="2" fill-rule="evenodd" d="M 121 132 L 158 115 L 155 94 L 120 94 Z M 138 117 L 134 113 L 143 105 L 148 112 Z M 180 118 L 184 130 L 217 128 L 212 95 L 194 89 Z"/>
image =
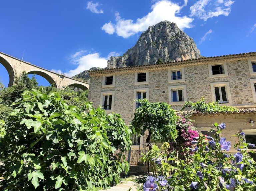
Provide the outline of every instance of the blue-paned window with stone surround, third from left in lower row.
<path id="1" fill-rule="evenodd" d="M 169 104 L 182 105 L 187 101 L 186 86 L 169 86 Z"/>

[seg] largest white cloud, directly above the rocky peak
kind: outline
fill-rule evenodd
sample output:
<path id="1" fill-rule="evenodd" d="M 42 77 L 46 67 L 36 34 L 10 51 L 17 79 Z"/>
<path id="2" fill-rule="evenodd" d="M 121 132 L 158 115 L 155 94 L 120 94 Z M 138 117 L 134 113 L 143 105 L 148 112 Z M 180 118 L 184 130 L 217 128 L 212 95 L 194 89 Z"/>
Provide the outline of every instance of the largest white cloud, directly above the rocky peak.
<path id="1" fill-rule="evenodd" d="M 187 2 L 186 0 L 184 1 Z M 149 26 L 155 25 L 161 21 L 167 20 L 174 22 L 181 29 L 191 28 L 192 18 L 187 16 L 178 17 L 178 14 L 183 6 L 172 3 L 168 0 L 161 0 L 156 2 L 151 7 L 151 12 L 142 18 L 138 18 L 135 22 L 131 19 L 123 19 L 120 14 L 116 12 L 116 24 L 106 23 L 103 25 L 102 30 L 108 34 L 116 32 L 118 36 L 128 38 L 138 32 L 147 30 Z"/>

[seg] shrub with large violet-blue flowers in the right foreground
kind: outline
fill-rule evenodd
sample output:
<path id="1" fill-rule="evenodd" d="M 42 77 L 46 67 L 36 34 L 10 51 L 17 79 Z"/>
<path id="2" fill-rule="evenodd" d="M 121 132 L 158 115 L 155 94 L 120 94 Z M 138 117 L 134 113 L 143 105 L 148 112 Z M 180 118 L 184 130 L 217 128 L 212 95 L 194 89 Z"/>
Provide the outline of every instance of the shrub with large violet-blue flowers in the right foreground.
<path id="1" fill-rule="evenodd" d="M 249 155 L 247 148 L 255 147 L 251 143 L 243 143 L 244 133 L 236 134 L 239 142 L 235 148 L 239 152 L 227 154 L 231 143 L 220 137 L 225 124 L 214 124 L 216 137 L 199 135 L 191 141 L 192 146 L 183 150 L 184 159 L 176 152 L 169 152 L 167 162 L 169 174 L 157 173 L 148 177 L 143 185 L 144 191 L 235 191 L 256 190 L 256 163 Z M 160 169 L 163 163 L 156 163 Z M 160 171 L 158 171 L 160 172 Z"/>

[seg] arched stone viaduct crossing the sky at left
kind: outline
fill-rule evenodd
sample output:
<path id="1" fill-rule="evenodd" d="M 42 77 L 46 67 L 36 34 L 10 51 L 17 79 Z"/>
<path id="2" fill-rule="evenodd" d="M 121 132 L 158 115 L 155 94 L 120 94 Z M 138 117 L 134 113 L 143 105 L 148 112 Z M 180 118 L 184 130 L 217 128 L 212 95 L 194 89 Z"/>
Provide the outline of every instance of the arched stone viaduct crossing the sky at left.
<path id="1" fill-rule="evenodd" d="M 37 74 L 44 77 L 56 88 L 63 89 L 67 86 L 75 86 L 82 90 L 89 89 L 89 83 L 46 70 L 2 52 L 0 52 L 0 63 L 6 68 L 9 74 L 10 81 L 8 86 L 12 86 L 21 73 L 26 71 L 28 74 Z"/>

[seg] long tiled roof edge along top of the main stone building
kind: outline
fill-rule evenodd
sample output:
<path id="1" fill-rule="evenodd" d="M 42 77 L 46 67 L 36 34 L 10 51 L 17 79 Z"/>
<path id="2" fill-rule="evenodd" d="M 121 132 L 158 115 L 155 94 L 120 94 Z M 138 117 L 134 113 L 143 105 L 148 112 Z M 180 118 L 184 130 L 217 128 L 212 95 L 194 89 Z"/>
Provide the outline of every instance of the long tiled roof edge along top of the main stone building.
<path id="1" fill-rule="evenodd" d="M 256 56 L 256 52 L 247 52 L 247 53 L 240 53 L 240 54 L 227 54 L 227 55 L 220 55 L 220 56 L 210 56 L 210 57 L 200 57 L 200 58 L 193 58 L 181 61 L 169 61 L 165 63 L 155 63 L 155 64 L 146 64 L 146 65 L 136 65 L 136 66 L 124 66 L 121 68 L 102 68 L 97 70 L 91 70 L 91 73 L 98 73 L 104 71 L 120 71 L 120 70 L 132 70 L 138 67 L 140 68 L 147 68 L 147 67 L 158 67 L 158 66 L 173 66 L 173 65 L 181 65 L 181 64 L 189 64 L 189 63 L 196 63 L 196 62 L 204 62 L 204 61 L 213 61 L 213 60 L 220 60 L 220 59 L 230 59 L 230 58 L 238 58 L 238 57 L 246 57 L 246 56 Z"/>

